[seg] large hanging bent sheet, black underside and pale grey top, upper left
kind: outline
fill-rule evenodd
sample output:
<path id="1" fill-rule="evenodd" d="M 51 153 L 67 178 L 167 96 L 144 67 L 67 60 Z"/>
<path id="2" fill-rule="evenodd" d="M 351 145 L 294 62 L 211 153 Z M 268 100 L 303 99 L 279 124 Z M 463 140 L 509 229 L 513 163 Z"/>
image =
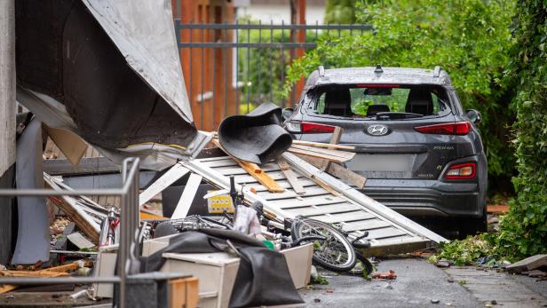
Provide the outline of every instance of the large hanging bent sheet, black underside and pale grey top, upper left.
<path id="1" fill-rule="evenodd" d="M 155 28 L 147 27 L 154 20 L 158 25 L 170 25 L 173 37 L 166 39 L 174 38 L 172 17 L 166 13 L 170 5 L 167 1 L 144 3 L 158 12 L 134 18 L 152 21 L 131 20 L 127 14 L 115 20 L 123 15 L 123 5 L 138 3 L 143 1 L 16 1 L 17 83 L 65 105 L 77 133 L 93 145 L 112 151 L 147 142 L 188 146 L 198 132 L 182 73 L 179 82 L 173 81 L 177 76 L 173 71 L 180 71 L 178 58 L 168 69 L 159 55 L 170 52 L 170 46 L 155 53 L 147 43 L 131 45 L 139 37 L 154 36 Z M 90 7 L 95 13 L 110 8 L 118 15 L 105 12 L 98 21 Z M 171 24 L 165 23 L 168 17 Z M 133 24 L 128 26 L 128 20 Z M 135 28 L 139 22 L 142 28 Z M 114 42 L 112 37 L 116 36 L 109 34 L 122 30 L 128 36 L 133 31 L 135 37 Z M 175 45 L 172 47 L 177 55 Z"/>

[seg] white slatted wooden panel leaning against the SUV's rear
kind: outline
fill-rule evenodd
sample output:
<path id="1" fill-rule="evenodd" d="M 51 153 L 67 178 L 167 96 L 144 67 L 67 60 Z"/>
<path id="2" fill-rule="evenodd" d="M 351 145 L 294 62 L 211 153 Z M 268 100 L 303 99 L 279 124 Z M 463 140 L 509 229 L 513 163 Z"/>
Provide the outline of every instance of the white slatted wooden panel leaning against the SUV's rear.
<path id="1" fill-rule="evenodd" d="M 288 153 L 283 154 L 283 157 L 286 154 Z M 394 248 L 400 248 L 402 252 L 409 252 L 413 250 L 406 248 L 425 248 L 434 242 L 447 241 L 423 227 L 423 229 L 415 227 L 417 224 L 409 219 L 408 221 L 399 220 L 399 218 L 392 219 L 390 217 L 391 210 L 380 203 L 371 204 L 369 201 L 351 198 L 351 194 L 350 197 L 346 196 L 345 191 L 359 192 L 350 186 L 346 186 L 337 178 L 330 176 L 330 179 L 322 178 L 320 174 L 324 172 L 314 168 L 307 162 L 289 162 L 298 181 L 305 186 L 305 193 L 303 194 L 294 192 L 289 185 L 288 179 L 281 172 L 279 166 L 276 167 L 276 164 L 266 164 L 263 170 L 266 169 L 265 173 L 287 188 L 285 193 L 267 191 L 257 179 L 245 174 L 246 171 L 242 170 L 242 167 L 237 167 L 234 160 L 229 156 L 196 159 L 185 162 L 185 164 L 192 172 L 200 174 L 211 185 L 217 186 L 219 189 L 229 187 L 228 175 L 235 172 L 235 174 L 238 174 L 235 177 L 236 189 L 238 191 L 243 190 L 246 201 L 250 203 L 261 201 L 268 213 L 280 219 L 305 215 L 329 223 L 336 222 L 345 225 L 346 230 L 353 230 L 349 232 L 350 238 L 360 236 L 363 232 L 369 232 L 368 239 L 377 255 L 381 255 L 383 251 L 388 251 L 388 249 L 392 251 Z M 309 172 L 301 171 L 303 166 L 306 169 L 314 170 L 316 173 L 313 175 L 320 179 L 322 184 L 329 186 L 329 190 L 335 191 L 338 195 L 330 193 L 311 180 L 312 176 Z M 227 169 L 231 171 L 226 172 Z M 244 186 L 242 187 L 242 185 Z M 364 196 L 362 193 L 359 194 Z M 415 229 L 417 231 L 414 231 Z"/>

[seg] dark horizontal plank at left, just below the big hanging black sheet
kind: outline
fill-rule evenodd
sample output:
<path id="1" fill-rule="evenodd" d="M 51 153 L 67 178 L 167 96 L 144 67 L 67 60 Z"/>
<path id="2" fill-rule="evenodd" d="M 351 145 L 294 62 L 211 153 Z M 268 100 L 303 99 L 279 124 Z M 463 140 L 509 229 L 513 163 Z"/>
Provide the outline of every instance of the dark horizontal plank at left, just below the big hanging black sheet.
<path id="1" fill-rule="evenodd" d="M 107 159 L 107 157 L 83 157 L 76 167 L 66 159 L 44 160 L 42 164 L 44 172 L 52 176 L 120 172 L 120 166 Z"/>

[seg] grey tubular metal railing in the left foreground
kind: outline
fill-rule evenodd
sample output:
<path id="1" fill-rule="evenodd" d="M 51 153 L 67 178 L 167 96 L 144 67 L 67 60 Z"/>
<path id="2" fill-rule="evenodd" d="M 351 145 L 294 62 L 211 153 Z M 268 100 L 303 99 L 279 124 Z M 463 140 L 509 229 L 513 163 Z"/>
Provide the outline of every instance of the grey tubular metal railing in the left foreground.
<path id="1" fill-rule="evenodd" d="M 34 278 L 10 277 L 0 278 L 0 284 L 39 285 L 65 283 L 119 283 L 120 307 L 125 306 L 127 295 L 126 282 L 129 274 L 137 273 L 136 260 L 139 257 L 139 158 L 127 158 L 122 168 L 123 186 L 115 189 L 0 189 L 0 197 L 47 197 L 47 196 L 120 196 L 120 246 L 118 250 L 118 275 L 111 277 L 78 277 L 78 278 Z"/>

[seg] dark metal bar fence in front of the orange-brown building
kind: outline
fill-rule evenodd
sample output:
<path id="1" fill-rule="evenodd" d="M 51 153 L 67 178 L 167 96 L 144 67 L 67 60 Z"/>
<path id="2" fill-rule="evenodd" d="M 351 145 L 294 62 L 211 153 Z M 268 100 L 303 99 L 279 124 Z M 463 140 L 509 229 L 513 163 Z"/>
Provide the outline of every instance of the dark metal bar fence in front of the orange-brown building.
<path id="1" fill-rule="evenodd" d="M 175 20 L 178 48 L 194 121 L 215 130 L 226 115 L 245 114 L 265 101 L 296 102 L 300 89 L 283 93 L 286 68 L 321 37 L 372 30 L 369 25 L 281 25 Z M 336 40 L 333 40 L 333 42 Z"/>

